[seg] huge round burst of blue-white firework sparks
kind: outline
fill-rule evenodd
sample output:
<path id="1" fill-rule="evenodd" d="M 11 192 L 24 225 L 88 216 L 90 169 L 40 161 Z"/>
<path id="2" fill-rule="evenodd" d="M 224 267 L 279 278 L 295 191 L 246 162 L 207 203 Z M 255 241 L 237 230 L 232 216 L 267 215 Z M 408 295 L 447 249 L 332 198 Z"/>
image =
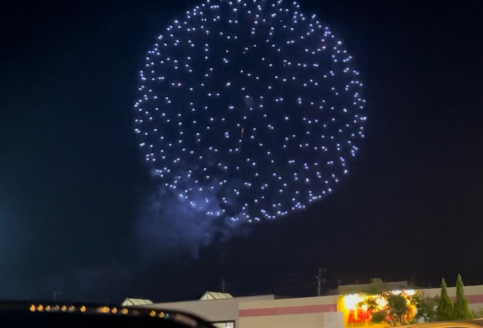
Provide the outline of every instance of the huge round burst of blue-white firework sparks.
<path id="1" fill-rule="evenodd" d="M 274 219 L 348 173 L 366 120 L 359 72 L 297 2 L 206 0 L 145 59 L 135 132 L 186 207 L 234 222 Z"/>

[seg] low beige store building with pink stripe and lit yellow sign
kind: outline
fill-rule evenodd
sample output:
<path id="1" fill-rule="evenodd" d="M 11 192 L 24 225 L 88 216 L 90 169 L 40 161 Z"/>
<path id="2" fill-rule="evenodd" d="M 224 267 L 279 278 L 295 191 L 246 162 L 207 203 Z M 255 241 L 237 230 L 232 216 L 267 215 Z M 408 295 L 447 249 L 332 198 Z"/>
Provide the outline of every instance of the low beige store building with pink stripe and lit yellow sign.
<path id="1" fill-rule="evenodd" d="M 351 315 L 354 318 L 354 315 L 357 317 L 363 312 L 363 309 L 357 308 L 360 295 L 342 292 L 351 293 L 354 287 L 341 286 L 340 294 L 301 298 L 277 298 L 273 294 L 233 297 L 227 293 L 206 292 L 195 301 L 142 306 L 191 312 L 220 328 L 377 328 L 364 318 L 357 323 L 350 320 Z M 454 299 L 456 287 L 448 287 L 447 290 L 450 298 Z M 439 295 L 441 289 L 420 291 L 426 297 Z M 465 296 L 471 310 L 483 309 L 483 285 L 465 286 Z"/>

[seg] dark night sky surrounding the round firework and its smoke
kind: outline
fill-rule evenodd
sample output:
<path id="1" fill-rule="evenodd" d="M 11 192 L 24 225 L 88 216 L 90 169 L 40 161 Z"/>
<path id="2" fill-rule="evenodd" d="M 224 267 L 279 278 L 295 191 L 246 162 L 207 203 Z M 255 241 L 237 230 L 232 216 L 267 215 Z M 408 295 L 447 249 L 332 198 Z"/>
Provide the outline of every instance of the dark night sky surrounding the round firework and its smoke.
<path id="1" fill-rule="evenodd" d="M 299 1 L 362 72 L 369 120 L 351 174 L 321 203 L 197 259 L 144 249 L 133 226 L 153 182 L 133 134 L 137 74 L 155 36 L 197 2 L 3 4 L 0 298 L 194 299 L 223 277 L 234 295 L 307 294 L 319 267 L 327 286 L 483 283 L 476 0 Z"/>

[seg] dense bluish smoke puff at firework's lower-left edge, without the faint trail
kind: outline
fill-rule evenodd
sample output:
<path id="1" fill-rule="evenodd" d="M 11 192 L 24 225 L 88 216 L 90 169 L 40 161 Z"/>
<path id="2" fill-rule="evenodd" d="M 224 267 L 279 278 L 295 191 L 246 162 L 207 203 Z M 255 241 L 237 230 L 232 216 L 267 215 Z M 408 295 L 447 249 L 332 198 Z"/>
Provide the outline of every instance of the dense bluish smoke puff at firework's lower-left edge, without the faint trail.
<path id="1" fill-rule="evenodd" d="M 148 256 L 189 254 L 198 259 L 202 248 L 248 233 L 246 225 L 216 215 L 223 212 L 213 190 L 205 188 L 188 198 L 159 187 L 140 210 L 136 231 L 141 247 Z"/>

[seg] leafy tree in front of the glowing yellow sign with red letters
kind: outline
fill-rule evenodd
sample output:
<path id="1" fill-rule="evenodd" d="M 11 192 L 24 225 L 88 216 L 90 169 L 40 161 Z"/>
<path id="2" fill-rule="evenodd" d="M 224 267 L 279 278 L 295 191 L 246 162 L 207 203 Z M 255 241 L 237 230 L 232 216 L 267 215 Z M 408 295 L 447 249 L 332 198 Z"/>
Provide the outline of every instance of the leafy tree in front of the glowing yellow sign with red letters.
<path id="1" fill-rule="evenodd" d="M 410 295 L 404 291 L 385 291 L 369 295 L 358 306 L 367 306 L 367 311 L 372 313 L 371 320 L 375 324 L 402 326 L 413 321 L 413 309 L 416 306 L 417 295 L 417 293 Z"/>

